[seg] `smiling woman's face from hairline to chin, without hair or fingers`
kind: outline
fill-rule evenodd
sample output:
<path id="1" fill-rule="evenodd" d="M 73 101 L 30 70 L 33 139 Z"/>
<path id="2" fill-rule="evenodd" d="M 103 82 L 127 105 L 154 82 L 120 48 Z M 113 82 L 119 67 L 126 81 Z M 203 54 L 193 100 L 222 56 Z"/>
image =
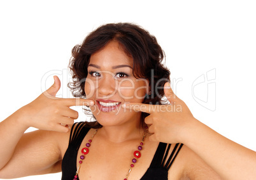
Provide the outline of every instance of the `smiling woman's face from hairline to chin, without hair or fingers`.
<path id="1" fill-rule="evenodd" d="M 148 91 L 148 80 L 136 79 L 132 65 L 132 58 L 117 41 L 109 42 L 90 57 L 85 94 L 96 101 L 90 109 L 103 126 L 139 124 L 141 112 L 121 107 L 124 102 L 142 103 Z"/>

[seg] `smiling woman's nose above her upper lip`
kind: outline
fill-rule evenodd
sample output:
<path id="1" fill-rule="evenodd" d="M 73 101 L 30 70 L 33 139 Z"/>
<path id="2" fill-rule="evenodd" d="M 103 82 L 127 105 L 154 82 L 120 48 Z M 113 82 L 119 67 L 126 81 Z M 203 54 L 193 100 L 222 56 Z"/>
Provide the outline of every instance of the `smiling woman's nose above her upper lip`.
<path id="1" fill-rule="evenodd" d="M 113 75 L 104 75 L 104 77 L 99 80 L 99 85 L 97 87 L 99 98 L 110 98 L 117 93 L 117 86 L 117 80 L 115 80 Z"/>

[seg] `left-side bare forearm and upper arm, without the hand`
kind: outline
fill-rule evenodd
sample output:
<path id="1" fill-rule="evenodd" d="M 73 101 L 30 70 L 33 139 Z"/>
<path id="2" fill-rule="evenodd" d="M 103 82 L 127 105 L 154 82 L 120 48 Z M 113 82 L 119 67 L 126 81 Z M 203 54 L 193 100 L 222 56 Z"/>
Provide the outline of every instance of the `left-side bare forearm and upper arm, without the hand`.
<path id="1" fill-rule="evenodd" d="M 59 139 L 69 133 L 34 131 L 25 133 L 19 113 L 0 123 L 0 178 L 16 178 L 60 171 Z M 67 135 L 65 135 L 67 134 Z M 68 138 L 66 138 L 68 143 Z"/>

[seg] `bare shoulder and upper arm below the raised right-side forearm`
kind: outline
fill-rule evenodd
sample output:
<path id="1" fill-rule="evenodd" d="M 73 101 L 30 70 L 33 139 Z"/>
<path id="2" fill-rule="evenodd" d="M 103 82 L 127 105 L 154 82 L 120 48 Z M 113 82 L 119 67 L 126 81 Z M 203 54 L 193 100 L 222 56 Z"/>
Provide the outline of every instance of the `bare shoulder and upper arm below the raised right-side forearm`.
<path id="1" fill-rule="evenodd" d="M 180 179 L 220 179 L 218 174 L 202 158 L 185 145 L 181 148 L 175 161 L 176 165 L 181 166 L 180 169 L 182 169 Z"/>

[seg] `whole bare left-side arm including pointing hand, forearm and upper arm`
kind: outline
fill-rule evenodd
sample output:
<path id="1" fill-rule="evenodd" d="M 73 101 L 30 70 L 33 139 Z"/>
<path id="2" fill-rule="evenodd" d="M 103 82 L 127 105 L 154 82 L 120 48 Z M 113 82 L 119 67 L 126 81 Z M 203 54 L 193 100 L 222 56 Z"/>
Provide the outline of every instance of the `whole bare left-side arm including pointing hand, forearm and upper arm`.
<path id="1" fill-rule="evenodd" d="M 0 123 L 0 146 L 3 147 L 0 148 L 0 178 L 56 171 L 61 160 L 59 139 L 69 134 L 67 126 L 78 118 L 78 112 L 70 106 L 94 103 L 92 100 L 55 98 L 59 88 L 60 80 L 55 77 L 52 87 Z M 43 131 L 24 134 L 28 127 Z"/>

